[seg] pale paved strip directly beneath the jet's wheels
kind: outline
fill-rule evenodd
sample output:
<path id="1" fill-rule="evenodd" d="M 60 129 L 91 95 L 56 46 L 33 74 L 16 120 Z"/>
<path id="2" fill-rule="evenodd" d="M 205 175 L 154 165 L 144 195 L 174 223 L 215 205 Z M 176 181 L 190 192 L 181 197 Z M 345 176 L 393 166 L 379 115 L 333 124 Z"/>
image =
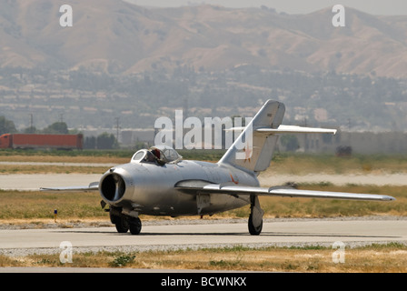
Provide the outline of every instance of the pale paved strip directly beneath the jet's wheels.
<path id="1" fill-rule="evenodd" d="M 388 219 L 292 219 L 263 223 L 260 236 L 250 236 L 239 223 L 176 224 L 143 226 L 142 233 L 119 234 L 114 227 L 2 229 L 0 254 L 60 253 L 60 244 L 70 242 L 75 252 L 98 250 L 144 251 L 222 246 L 345 246 L 372 243 L 407 243 L 407 220 Z"/>

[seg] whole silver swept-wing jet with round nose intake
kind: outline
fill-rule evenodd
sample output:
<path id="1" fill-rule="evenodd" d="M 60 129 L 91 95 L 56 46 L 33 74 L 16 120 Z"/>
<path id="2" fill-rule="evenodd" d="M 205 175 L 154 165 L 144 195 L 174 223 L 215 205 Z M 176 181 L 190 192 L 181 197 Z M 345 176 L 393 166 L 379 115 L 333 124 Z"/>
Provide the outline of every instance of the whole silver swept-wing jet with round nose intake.
<path id="1" fill-rule="evenodd" d="M 250 205 L 248 228 L 260 235 L 263 210 L 259 196 L 353 200 L 394 200 L 392 196 L 261 187 L 257 176 L 271 163 L 279 135 L 335 134 L 334 129 L 282 125 L 285 106 L 268 100 L 217 163 L 184 160 L 170 146 L 137 151 L 128 164 L 114 166 L 89 186 L 42 188 L 45 191 L 99 191 L 101 206 L 119 233 L 138 235 L 140 215 L 205 216 Z M 251 137 L 251 146 L 243 148 Z M 238 156 L 237 154 L 241 154 Z"/>

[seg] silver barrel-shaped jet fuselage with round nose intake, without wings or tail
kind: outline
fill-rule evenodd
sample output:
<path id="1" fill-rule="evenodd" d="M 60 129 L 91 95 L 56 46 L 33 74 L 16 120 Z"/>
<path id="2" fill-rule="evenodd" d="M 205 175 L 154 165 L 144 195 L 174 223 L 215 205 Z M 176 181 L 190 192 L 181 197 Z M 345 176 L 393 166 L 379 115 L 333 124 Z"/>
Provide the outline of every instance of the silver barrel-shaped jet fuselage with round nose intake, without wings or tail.
<path id="1" fill-rule="evenodd" d="M 259 186 L 256 176 L 235 167 L 184 160 L 164 166 L 134 162 L 115 166 L 102 176 L 99 191 L 108 205 L 121 207 L 130 216 L 212 215 L 250 203 L 247 196 L 194 196 L 174 188 L 188 180 Z"/>

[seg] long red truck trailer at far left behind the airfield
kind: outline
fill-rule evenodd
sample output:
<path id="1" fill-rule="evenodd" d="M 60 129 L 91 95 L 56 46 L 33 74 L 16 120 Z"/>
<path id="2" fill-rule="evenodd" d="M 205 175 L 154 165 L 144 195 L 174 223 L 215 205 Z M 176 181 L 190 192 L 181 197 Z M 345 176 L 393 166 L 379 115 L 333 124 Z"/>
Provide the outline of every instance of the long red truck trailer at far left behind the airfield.
<path id="1" fill-rule="evenodd" d="M 0 135 L 0 148 L 82 149 L 84 135 Z"/>

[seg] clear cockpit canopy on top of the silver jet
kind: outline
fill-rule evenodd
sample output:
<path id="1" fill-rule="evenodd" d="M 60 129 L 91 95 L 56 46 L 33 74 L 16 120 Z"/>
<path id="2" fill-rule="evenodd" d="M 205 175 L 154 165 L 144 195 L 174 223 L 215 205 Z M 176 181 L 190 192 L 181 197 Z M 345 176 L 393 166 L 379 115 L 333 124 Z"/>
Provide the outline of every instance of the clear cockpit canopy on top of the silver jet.
<path id="1" fill-rule="evenodd" d="M 176 164 L 181 161 L 180 156 L 171 146 L 152 146 L 141 149 L 132 157 L 132 163 L 155 163 L 158 165 Z"/>

